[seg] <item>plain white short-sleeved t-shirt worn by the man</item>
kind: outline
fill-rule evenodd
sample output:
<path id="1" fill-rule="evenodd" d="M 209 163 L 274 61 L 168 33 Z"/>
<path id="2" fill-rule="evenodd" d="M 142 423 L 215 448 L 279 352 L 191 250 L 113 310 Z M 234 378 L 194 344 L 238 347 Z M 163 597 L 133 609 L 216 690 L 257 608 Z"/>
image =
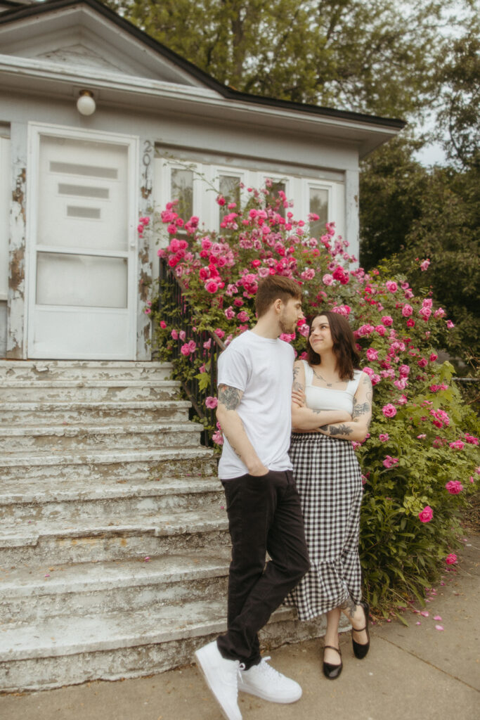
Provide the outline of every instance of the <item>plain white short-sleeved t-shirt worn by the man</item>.
<path id="1" fill-rule="evenodd" d="M 283 340 L 251 330 L 233 340 L 218 359 L 218 384 L 243 391 L 237 413 L 248 439 L 269 470 L 289 470 L 291 386 L 294 349 Z M 219 477 L 231 480 L 248 472 L 224 436 Z"/>

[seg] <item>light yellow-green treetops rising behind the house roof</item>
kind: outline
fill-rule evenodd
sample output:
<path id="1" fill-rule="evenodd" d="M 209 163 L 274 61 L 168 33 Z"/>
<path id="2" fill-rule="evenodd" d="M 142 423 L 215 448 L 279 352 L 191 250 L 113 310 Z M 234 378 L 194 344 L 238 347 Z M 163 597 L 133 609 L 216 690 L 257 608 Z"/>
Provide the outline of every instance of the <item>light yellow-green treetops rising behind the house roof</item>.
<path id="1" fill-rule="evenodd" d="M 391 117 L 435 95 L 460 0 L 106 0 L 237 90 Z"/>

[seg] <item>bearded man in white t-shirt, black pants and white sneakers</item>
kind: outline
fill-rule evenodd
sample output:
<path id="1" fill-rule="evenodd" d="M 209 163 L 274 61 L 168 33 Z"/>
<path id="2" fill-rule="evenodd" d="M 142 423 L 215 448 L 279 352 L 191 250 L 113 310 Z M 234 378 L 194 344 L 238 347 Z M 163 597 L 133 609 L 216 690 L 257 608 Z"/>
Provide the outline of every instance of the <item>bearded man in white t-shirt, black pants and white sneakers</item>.
<path id="1" fill-rule="evenodd" d="M 279 703 L 302 695 L 298 683 L 261 659 L 258 642 L 258 631 L 309 569 L 288 455 L 294 351 L 279 340 L 303 317 L 301 297 L 294 280 L 264 279 L 255 296 L 255 327 L 218 361 L 219 477 L 232 539 L 228 629 L 195 654 L 228 720 L 242 719 L 238 690 Z"/>

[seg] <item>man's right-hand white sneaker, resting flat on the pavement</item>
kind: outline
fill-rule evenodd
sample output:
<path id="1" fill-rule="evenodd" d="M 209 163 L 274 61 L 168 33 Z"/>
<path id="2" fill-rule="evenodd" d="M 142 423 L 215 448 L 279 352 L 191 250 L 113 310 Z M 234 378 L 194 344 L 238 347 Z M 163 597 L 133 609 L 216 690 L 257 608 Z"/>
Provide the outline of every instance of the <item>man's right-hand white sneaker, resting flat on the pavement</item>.
<path id="1" fill-rule="evenodd" d="M 263 657 L 258 665 L 241 670 L 238 689 L 243 693 L 256 695 L 272 703 L 294 703 L 302 697 L 302 688 L 295 680 L 277 672 Z"/>

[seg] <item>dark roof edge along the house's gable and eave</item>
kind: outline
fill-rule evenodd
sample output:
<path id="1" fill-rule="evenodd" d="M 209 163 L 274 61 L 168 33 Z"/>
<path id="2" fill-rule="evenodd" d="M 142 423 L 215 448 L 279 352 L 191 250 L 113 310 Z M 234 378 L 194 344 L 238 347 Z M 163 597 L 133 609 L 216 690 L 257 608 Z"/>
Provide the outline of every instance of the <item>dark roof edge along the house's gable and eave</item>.
<path id="1" fill-rule="evenodd" d="M 5 47 L 5 42 L 2 42 L 1 38 L 2 27 L 5 27 L 6 30 L 6 26 L 9 26 L 8 35 L 12 42 L 12 37 L 15 37 L 12 30 L 16 24 L 19 32 L 22 32 L 24 22 L 31 19 L 41 21 L 44 18 L 46 19 L 47 15 L 51 15 L 53 13 L 58 14 L 58 11 L 71 11 L 75 8 L 81 9 L 83 7 L 85 9 L 91 9 L 91 11 L 103 17 L 108 22 L 113 23 L 120 30 L 130 35 L 132 39 L 137 40 L 137 43 L 143 45 L 145 49 L 153 51 L 154 54 L 158 55 L 158 58 L 164 61 L 164 67 L 168 66 L 171 69 L 171 81 L 173 82 L 180 81 L 181 84 L 204 86 L 215 93 L 218 93 L 227 100 L 236 100 L 253 105 L 263 105 L 264 107 L 278 108 L 280 110 L 292 110 L 296 113 L 300 112 L 311 115 L 320 115 L 322 117 L 338 118 L 338 120 L 344 121 L 350 120 L 356 123 L 360 122 L 361 125 L 375 125 L 376 127 L 384 127 L 385 129 L 388 128 L 390 131 L 393 131 L 394 134 L 399 132 L 399 130 L 402 130 L 402 128 L 406 125 L 404 120 L 338 110 L 329 107 L 321 107 L 319 105 L 290 102 L 287 100 L 279 100 L 271 97 L 237 91 L 229 86 L 219 83 L 217 80 L 212 78 L 212 76 L 209 76 L 193 63 L 190 63 L 189 60 L 185 60 L 185 58 L 182 58 L 181 55 L 174 53 L 173 50 L 169 50 L 165 45 L 162 45 L 157 40 L 153 40 L 150 35 L 147 35 L 147 33 L 140 30 L 131 22 L 120 17 L 113 10 L 109 9 L 97 0 L 47 0 L 42 3 L 33 2 L 31 4 L 19 4 L 18 2 L 15 3 L 14 0 L 4 0 L 3 4 L 12 5 L 12 7 L 4 10 L 4 12 L 0 12 L 0 50 L 3 50 Z M 35 32 L 38 36 L 38 24 L 35 24 Z M 178 68 L 177 73 L 175 73 L 174 68 Z"/>

